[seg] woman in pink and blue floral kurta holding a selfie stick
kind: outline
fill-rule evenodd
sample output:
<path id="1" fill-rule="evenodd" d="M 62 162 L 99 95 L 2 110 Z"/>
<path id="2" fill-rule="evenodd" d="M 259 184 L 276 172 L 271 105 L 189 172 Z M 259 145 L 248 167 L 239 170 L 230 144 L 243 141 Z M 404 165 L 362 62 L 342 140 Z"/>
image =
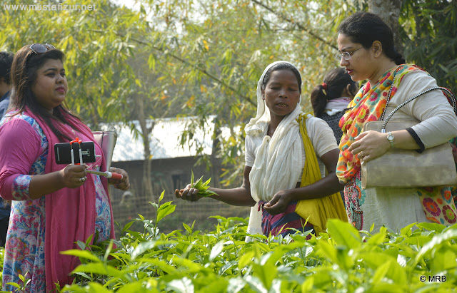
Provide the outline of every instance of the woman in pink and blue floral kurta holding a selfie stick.
<path id="1" fill-rule="evenodd" d="M 94 141 L 91 130 L 71 115 L 62 103 L 68 90 L 64 53 L 49 44 L 27 45 L 14 56 L 11 68 L 14 92 L 9 112 L 0 121 L 0 195 L 12 200 L 6 236 L 3 289 L 21 284 L 19 274 L 31 279 L 27 292 L 49 292 L 56 283 L 69 284 L 79 264 L 61 251 L 77 248 L 75 242 L 99 234 L 99 241 L 114 239 L 114 221 L 108 181 L 86 173 L 104 170 L 99 159 L 88 165 L 57 165 L 54 144 L 78 137 Z M 129 188 L 128 175 L 111 180 Z"/>

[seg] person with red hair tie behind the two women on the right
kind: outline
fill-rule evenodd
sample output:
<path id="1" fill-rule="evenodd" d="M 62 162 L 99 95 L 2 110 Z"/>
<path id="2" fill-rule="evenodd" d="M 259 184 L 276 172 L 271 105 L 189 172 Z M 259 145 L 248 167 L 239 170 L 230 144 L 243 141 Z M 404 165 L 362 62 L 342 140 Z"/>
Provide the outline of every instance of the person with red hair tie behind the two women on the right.
<path id="1" fill-rule="evenodd" d="M 323 83 L 311 91 L 311 106 L 313 106 L 314 115 L 326 121 L 330 126 L 337 144 L 340 143 L 341 135 L 343 135 L 338 124 L 357 91 L 358 83 L 351 79 L 344 68 L 328 71 L 323 77 Z"/>

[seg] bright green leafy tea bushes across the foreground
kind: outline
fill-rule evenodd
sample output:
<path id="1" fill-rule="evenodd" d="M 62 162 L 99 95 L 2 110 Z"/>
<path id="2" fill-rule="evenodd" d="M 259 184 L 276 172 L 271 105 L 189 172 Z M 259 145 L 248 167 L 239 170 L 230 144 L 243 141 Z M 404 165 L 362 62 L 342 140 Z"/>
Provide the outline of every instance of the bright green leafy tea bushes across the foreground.
<path id="1" fill-rule="evenodd" d="M 151 203 L 154 220 L 143 232 L 124 227 L 119 241 L 79 242 L 67 255 L 81 259 L 76 280 L 61 292 L 455 292 L 457 225 L 413 223 L 399 233 L 359 232 L 329 220 L 326 233 L 306 241 L 255 235 L 247 219 L 216 216 L 208 233 L 183 224 L 164 234 L 159 222 L 171 202 Z M 116 248 L 114 248 L 116 247 Z M 423 279 L 425 278 L 425 280 Z"/>

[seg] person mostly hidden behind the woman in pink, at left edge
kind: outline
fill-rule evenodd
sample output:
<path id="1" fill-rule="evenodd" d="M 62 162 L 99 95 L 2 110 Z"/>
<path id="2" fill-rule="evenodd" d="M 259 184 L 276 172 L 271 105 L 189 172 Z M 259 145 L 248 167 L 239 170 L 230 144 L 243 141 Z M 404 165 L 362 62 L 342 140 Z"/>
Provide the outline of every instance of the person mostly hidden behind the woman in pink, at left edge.
<path id="1" fill-rule="evenodd" d="M 0 52 L 0 120 L 9 106 L 9 94 L 11 81 L 9 78 L 11 64 L 14 55 L 8 52 Z M 5 246 L 6 231 L 8 231 L 9 213 L 11 206 L 6 200 L 0 201 L 0 246 Z"/>

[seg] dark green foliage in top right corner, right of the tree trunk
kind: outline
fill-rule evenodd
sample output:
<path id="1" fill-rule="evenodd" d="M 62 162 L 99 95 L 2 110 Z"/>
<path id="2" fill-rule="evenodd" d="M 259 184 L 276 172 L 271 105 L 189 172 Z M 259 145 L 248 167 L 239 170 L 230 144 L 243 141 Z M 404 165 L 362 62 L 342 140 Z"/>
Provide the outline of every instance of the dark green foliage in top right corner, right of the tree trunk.
<path id="1" fill-rule="evenodd" d="M 438 86 L 457 91 L 457 2 L 403 2 L 400 23 L 406 61 L 426 69 Z"/>

